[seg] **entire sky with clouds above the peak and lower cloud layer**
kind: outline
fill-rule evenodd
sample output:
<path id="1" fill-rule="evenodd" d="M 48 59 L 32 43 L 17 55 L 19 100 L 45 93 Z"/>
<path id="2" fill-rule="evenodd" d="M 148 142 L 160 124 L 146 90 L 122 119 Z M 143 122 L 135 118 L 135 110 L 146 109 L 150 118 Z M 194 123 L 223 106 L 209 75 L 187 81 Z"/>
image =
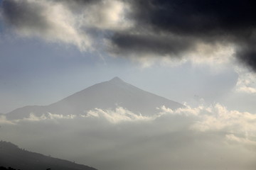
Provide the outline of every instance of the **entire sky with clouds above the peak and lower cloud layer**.
<path id="1" fill-rule="evenodd" d="M 254 5 L 1 1 L 0 113 L 113 77 L 180 103 L 255 112 Z"/>

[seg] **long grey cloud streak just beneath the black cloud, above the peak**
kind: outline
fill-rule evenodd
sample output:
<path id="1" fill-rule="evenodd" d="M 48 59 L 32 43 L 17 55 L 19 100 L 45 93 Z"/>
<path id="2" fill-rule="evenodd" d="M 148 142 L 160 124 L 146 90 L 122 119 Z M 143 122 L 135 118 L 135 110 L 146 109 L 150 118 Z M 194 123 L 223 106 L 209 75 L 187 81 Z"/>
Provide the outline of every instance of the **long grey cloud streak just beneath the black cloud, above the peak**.
<path id="1" fill-rule="evenodd" d="M 191 40 L 185 42 L 181 38 L 156 36 L 156 35 L 132 35 L 126 33 L 116 33 L 112 37 L 115 52 L 119 55 L 136 52 L 159 55 L 178 56 L 183 50 L 192 46 Z M 121 50 L 122 49 L 122 50 Z"/>

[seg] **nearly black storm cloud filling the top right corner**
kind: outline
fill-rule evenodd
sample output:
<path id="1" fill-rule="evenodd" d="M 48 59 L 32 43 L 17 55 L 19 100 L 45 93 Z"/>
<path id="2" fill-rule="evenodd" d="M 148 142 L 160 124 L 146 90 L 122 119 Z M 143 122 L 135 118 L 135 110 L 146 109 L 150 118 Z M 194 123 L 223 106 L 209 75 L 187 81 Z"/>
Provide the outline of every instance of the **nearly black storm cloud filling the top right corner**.
<path id="1" fill-rule="evenodd" d="M 133 1 L 138 23 L 181 35 L 244 33 L 255 27 L 254 1 Z"/>

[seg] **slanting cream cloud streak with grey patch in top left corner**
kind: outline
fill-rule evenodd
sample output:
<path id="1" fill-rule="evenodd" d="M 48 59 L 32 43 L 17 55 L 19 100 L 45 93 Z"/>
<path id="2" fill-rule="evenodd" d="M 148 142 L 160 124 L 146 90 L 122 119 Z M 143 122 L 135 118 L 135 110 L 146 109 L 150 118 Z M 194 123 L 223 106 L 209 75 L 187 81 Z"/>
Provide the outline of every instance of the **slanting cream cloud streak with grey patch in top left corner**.
<path id="1" fill-rule="evenodd" d="M 2 18 L 23 37 L 76 45 L 80 50 L 91 46 L 90 35 L 78 26 L 79 16 L 54 1 L 4 1 Z"/>

